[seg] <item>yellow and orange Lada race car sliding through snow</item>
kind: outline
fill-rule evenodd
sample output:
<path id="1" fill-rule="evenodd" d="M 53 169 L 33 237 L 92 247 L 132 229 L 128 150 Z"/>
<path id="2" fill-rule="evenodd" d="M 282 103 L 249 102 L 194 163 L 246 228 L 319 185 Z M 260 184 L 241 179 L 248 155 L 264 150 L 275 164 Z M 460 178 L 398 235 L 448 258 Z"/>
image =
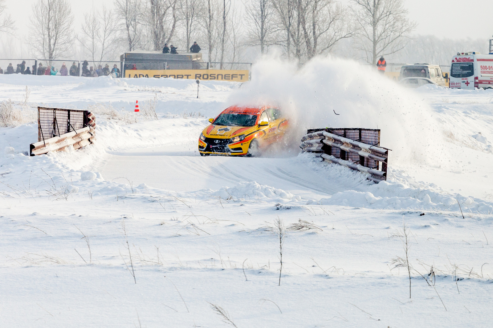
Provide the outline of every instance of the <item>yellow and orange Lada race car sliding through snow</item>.
<path id="1" fill-rule="evenodd" d="M 263 148 L 281 140 L 289 126 L 279 108 L 271 106 L 231 106 L 209 122 L 199 137 L 201 156 L 259 156 Z"/>

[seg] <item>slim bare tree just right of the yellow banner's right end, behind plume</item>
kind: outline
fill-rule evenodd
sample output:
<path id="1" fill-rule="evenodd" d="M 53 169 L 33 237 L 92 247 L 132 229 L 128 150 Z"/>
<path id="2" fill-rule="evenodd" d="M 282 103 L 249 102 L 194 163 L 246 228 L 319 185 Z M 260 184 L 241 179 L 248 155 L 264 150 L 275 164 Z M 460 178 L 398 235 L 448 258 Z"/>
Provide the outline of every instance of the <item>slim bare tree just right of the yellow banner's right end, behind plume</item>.
<path id="1" fill-rule="evenodd" d="M 274 5 L 271 0 L 250 0 L 245 3 L 245 12 L 252 23 L 247 26 L 248 43 L 260 46 L 260 53 L 264 54 L 267 47 L 273 44 L 272 36 L 277 31 L 273 20 Z"/>

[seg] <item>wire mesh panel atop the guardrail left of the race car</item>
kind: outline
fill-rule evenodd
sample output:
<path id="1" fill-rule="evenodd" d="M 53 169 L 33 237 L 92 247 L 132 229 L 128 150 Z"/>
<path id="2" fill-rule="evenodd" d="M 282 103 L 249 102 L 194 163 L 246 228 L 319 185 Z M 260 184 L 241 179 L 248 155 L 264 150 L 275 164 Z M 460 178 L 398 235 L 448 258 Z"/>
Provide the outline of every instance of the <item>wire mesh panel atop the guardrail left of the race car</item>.
<path id="1" fill-rule="evenodd" d="M 85 111 L 38 107 L 38 141 L 82 129 Z"/>

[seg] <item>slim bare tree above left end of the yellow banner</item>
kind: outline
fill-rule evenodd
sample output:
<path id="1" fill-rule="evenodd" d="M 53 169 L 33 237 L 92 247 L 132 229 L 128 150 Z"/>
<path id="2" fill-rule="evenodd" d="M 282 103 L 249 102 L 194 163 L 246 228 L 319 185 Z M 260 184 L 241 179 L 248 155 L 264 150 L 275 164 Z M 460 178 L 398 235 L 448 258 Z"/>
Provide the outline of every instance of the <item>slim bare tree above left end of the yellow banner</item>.
<path id="1" fill-rule="evenodd" d="M 141 41 L 142 27 L 139 22 L 140 0 L 115 0 L 115 12 L 120 17 L 120 31 L 125 35 L 128 51 L 135 50 Z"/>

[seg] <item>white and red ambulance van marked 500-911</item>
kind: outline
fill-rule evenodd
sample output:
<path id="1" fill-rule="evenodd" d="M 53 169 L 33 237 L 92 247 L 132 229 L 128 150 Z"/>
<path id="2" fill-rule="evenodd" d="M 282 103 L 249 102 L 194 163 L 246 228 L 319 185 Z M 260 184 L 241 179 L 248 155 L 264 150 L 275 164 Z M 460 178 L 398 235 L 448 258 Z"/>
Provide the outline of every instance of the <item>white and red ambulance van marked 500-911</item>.
<path id="1" fill-rule="evenodd" d="M 493 88 L 493 54 L 458 52 L 450 66 L 450 88 L 474 90 Z"/>

